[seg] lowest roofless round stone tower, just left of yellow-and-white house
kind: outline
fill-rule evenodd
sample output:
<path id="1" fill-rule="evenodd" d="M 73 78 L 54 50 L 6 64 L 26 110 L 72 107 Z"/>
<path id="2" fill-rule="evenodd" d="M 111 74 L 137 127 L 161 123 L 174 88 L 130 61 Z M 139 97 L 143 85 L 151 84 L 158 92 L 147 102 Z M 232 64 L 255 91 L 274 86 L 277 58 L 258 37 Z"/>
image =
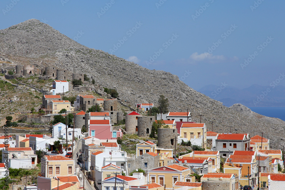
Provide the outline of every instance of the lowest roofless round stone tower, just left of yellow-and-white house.
<path id="1" fill-rule="evenodd" d="M 166 149 L 174 149 L 176 145 L 177 148 L 177 137 L 178 137 L 177 129 L 158 128 L 157 146 Z"/>

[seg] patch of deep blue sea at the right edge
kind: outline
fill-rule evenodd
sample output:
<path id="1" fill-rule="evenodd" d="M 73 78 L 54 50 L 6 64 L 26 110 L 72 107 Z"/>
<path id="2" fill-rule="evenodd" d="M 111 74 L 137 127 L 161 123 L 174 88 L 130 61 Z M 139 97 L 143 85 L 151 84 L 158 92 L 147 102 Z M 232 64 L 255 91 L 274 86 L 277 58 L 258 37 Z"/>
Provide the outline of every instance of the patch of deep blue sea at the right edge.
<path id="1" fill-rule="evenodd" d="M 249 107 L 251 111 L 267 117 L 276 117 L 285 121 L 285 107 Z"/>

